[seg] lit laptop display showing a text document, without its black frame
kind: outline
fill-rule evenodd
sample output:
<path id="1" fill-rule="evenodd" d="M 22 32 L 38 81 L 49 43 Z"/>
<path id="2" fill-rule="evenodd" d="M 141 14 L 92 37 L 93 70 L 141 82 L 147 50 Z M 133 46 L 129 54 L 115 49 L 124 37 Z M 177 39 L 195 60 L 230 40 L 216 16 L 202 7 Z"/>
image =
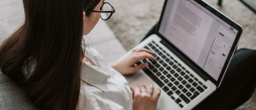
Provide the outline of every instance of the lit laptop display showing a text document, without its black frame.
<path id="1" fill-rule="evenodd" d="M 238 31 L 194 0 L 168 0 L 158 33 L 218 80 Z"/>

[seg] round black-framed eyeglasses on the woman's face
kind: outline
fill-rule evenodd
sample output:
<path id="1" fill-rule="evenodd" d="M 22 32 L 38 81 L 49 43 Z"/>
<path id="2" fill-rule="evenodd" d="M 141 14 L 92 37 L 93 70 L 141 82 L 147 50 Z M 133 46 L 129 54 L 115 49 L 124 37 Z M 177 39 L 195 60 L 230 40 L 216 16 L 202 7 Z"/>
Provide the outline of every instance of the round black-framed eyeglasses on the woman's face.
<path id="1" fill-rule="evenodd" d="M 84 12 L 98 12 L 102 20 L 108 20 L 115 12 L 114 7 L 107 2 L 104 2 L 100 7 L 100 11 L 84 11 Z"/>

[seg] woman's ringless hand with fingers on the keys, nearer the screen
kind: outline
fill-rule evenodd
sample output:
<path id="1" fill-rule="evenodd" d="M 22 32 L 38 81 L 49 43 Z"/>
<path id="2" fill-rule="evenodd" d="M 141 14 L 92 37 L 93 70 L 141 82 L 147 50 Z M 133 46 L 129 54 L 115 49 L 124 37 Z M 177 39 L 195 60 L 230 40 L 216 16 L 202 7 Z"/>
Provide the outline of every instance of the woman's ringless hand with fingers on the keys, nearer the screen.
<path id="1" fill-rule="evenodd" d="M 148 66 L 147 63 L 142 63 L 138 66 L 134 66 L 135 62 L 146 58 L 156 60 L 156 58 L 154 58 L 154 56 L 152 56 L 151 54 L 153 54 L 153 52 L 148 49 L 135 49 L 126 58 L 121 59 L 117 62 L 110 62 L 108 65 L 122 74 L 134 73 Z"/>

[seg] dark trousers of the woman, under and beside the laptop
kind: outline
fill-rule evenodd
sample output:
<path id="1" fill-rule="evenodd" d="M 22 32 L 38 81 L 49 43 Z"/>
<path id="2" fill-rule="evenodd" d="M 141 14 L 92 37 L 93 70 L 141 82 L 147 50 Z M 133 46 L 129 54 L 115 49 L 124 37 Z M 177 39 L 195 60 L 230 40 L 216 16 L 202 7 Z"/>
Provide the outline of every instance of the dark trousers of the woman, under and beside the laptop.
<path id="1" fill-rule="evenodd" d="M 155 33 L 156 24 L 146 39 Z M 256 51 L 240 49 L 228 66 L 221 86 L 193 110 L 233 110 L 251 98 L 256 88 Z"/>

